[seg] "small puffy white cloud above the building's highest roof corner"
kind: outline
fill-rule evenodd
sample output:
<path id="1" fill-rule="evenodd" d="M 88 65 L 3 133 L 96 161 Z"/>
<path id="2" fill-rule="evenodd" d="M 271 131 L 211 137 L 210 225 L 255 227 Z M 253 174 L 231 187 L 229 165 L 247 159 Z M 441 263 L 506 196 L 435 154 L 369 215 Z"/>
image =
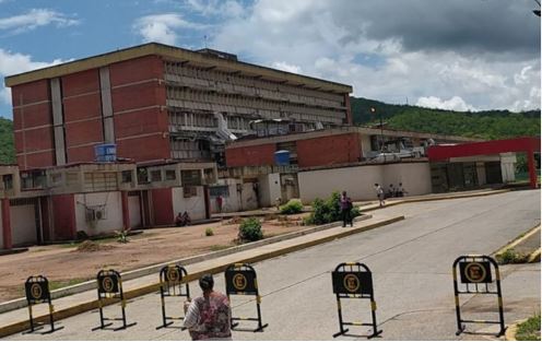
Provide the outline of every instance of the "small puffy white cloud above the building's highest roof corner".
<path id="1" fill-rule="evenodd" d="M 180 14 L 164 13 L 146 15 L 138 19 L 133 28 L 143 37 L 144 42 L 157 42 L 175 45 L 178 28 L 201 30 L 205 25 L 191 23 Z"/>

